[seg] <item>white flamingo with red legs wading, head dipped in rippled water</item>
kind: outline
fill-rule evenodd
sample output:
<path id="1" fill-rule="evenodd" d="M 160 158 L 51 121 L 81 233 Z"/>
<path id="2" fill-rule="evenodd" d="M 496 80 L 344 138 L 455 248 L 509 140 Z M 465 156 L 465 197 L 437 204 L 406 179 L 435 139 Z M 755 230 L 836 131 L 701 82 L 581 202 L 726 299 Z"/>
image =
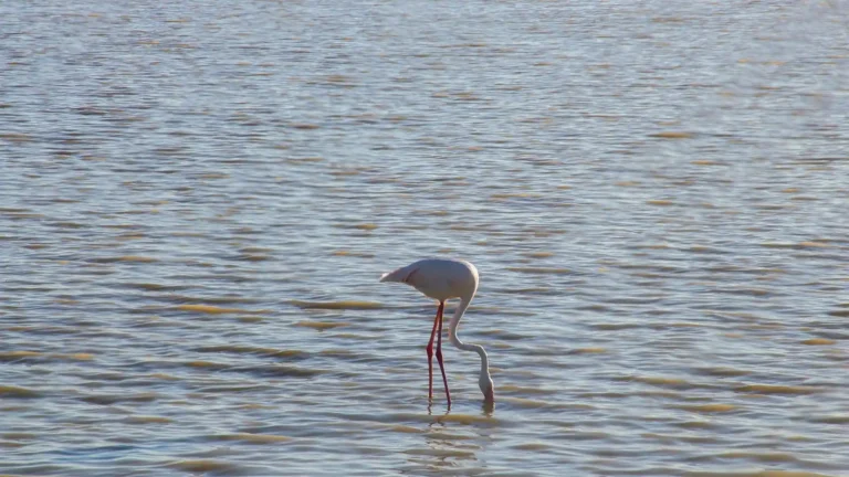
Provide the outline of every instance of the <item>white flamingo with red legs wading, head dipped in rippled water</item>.
<path id="1" fill-rule="evenodd" d="M 451 407 L 451 392 L 448 389 L 446 367 L 442 363 L 442 311 L 446 300 L 460 298 L 460 305 L 448 325 L 448 337 L 451 342 L 463 351 L 474 351 L 481 357 L 481 375 L 478 384 L 481 386 L 485 403 L 495 400 L 494 385 L 490 377 L 490 360 L 486 351 L 480 344 L 464 343 L 457 337 L 457 327 L 460 318 L 472 303 L 478 292 L 478 268 L 471 263 L 461 259 L 426 258 L 411 263 L 405 267 L 384 274 L 380 282 L 398 282 L 410 285 L 426 296 L 439 301 L 437 317 L 433 319 L 433 329 L 430 331 L 430 341 L 426 348 L 428 352 L 428 399 L 433 399 L 433 338 L 437 338 L 437 361 L 442 372 L 442 383 L 446 385 L 448 406 Z"/>

